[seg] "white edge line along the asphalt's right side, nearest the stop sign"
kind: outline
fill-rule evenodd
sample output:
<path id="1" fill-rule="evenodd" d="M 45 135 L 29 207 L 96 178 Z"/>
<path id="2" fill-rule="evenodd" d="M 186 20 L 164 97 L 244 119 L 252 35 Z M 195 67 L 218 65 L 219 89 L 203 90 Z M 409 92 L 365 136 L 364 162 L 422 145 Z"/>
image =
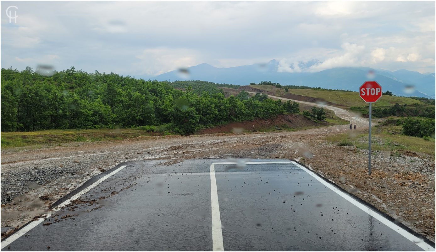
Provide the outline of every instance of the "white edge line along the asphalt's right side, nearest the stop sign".
<path id="1" fill-rule="evenodd" d="M 393 223 L 390 220 L 386 219 L 385 217 L 381 216 L 379 213 L 372 211 L 369 207 L 363 205 L 361 202 L 358 202 L 357 200 L 351 198 L 349 195 L 347 195 L 346 193 L 344 193 L 341 190 L 337 189 L 336 187 L 334 187 L 330 183 L 324 181 L 324 179 L 320 178 L 318 175 L 316 175 L 312 171 L 308 170 L 306 167 L 301 166 L 300 164 L 298 164 L 296 162 L 293 162 L 293 161 L 292 161 L 292 163 L 294 165 L 300 167 L 301 169 L 303 169 L 307 173 L 309 173 L 311 176 L 313 176 L 315 179 L 317 179 L 319 182 L 321 182 L 327 188 L 329 188 L 332 191 L 334 191 L 337 194 L 339 194 L 339 196 L 341 196 L 344 199 L 346 199 L 349 202 L 351 202 L 354 206 L 357 206 L 358 208 L 362 209 L 364 212 L 368 213 L 369 215 L 371 215 L 375 219 L 378 219 L 380 222 L 382 222 L 383 224 L 387 225 L 388 227 L 390 227 L 392 230 L 394 230 L 395 232 L 399 233 L 400 235 L 404 236 L 409 241 L 415 243 L 421 249 L 424 249 L 425 251 L 435 251 L 435 248 L 433 248 L 432 246 L 430 246 L 429 244 L 427 244 L 423 240 L 419 239 L 415 235 L 412 235 L 411 233 L 409 233 L 406 230 L 402 229 L 401 227 L 399 227 L 395 223 Z"/>

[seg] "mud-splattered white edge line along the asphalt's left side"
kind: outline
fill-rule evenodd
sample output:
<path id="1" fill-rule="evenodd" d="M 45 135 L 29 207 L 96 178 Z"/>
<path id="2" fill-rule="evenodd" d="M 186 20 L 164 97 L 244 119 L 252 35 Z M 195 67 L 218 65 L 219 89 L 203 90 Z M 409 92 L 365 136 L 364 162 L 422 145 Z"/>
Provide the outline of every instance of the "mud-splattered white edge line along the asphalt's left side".
<path id="1" fill-rule="evenodd" d="M 59 211 L 61 209 L 61 207 L 68 205 L 73 200 L 75 200 L 78 197 L 82 196 L 84 193 L 88 192 L 89 190 L 91 190 L 92 188 L 94 188 L 95 186 L 97 186 L 98 184 L 100 184 L 101 182 L 103 182 L 104 180 L 109 178 L 110 176 L 112 176 L 115 173 L 119 172 L 120 170 L 124 169 L 125 167 L 126 166 L 119 167 L 115 171 L 109 173 L 108 175 L 106 175 L 106 176 L 102 177 L 101 179 L 97 180 L 96 182 L 94 182 L 91 186 L 88 186 L 87 188 L 85 188 L 82 191 L 78 192 L 77 194 L 72 196 L 70 199 L 65 200 L 64 202 L 59 204 L 59 206 L 55 207 L 50 212 L 48 212 L 48 216 L 51 216 L 54 212 Z M 27 225 L 24 228 L 20 229 L 16 233 L 13 233 L 7 239 L 5 239 L 3 242 L 1 242 L 1 249 L 6 247 L 7 245 L 9 245 L 10 243 L 14 242 L 16 239 L 20 238 L 22 235 L 24 235 L 25 233 L 29 232 L 31 229 L 33 229 L 34 227 L 36 227 L 38 224 L 40 224 L 43 221 L 44 221 L 44 218 L 40 218 L 40 219 L 38 219 L 36 221 L 33 221 L 33 222 L 29 223 L 29 225 Z"/>

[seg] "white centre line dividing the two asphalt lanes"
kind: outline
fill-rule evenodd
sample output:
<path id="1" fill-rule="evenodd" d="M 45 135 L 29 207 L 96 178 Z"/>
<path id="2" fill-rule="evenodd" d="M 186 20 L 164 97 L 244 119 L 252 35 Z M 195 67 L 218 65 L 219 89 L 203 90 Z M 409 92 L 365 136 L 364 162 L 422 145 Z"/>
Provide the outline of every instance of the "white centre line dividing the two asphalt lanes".
<path id="1" fill-rule="evenodd" d="M 224 251 L 222 243 L 221 216 L 219 213 L 215 165 L 211 164 L 211 202 L 212 202 L 212 251 Z"/>

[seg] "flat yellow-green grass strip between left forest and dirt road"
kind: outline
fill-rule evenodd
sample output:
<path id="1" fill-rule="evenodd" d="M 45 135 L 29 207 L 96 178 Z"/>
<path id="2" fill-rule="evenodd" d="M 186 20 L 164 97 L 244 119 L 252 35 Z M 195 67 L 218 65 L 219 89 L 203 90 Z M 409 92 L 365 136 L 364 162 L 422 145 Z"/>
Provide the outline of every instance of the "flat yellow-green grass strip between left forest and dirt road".
<path id="1" fill-rule="evenodd" d="M 1 149 L 24 146 L 61 145 L 62 143 L 123 140 L 151 136 L 141 129 L 53 129 L 33 132 L 2 132 Z"/>

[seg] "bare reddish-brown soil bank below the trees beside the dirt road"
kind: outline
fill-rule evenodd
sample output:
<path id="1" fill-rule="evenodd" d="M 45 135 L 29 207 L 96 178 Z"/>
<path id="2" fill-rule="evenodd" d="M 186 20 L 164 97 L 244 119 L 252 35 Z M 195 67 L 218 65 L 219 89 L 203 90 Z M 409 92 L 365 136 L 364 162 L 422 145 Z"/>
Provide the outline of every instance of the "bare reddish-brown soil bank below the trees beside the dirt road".
<path id="1" fill-rule="evenodd" d="M 269 119 L 255 119 L 253 121 L 245 121 L 241 123 L 229 123 L 226 125 L 216 126 L 208 129 L 201 129 L 198 134 L 215 134 L 223 132 L 232 132 L 234 129 L 244 129 L 252 132 L 271 129 L 272 127 L 283 128 L 300 128 L 307 126 L 328 126 L 330 123 L 315 123 L 302 115 L 278 115 Z"/>

